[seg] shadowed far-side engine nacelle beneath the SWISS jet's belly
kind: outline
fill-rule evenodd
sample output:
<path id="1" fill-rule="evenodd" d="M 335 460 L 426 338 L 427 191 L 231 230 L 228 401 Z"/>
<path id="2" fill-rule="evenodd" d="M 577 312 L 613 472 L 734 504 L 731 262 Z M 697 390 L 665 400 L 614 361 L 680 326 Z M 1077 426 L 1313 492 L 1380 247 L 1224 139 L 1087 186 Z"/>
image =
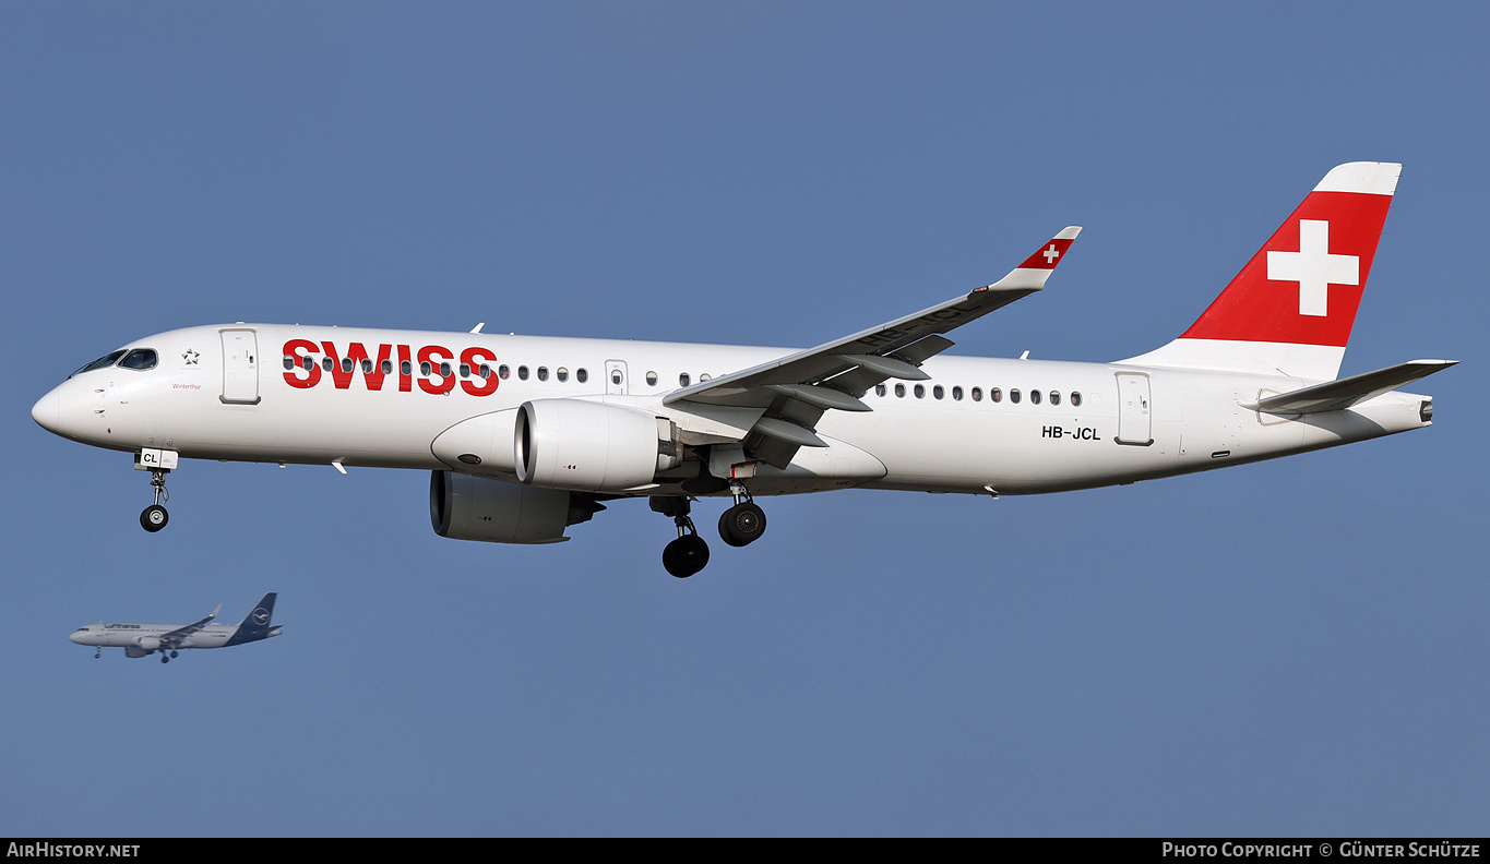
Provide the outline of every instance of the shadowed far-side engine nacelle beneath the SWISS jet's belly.
<path id="1" fill-rule="evenodd" d="M 493 544 L 557 544 L 563 529 L 589 521 L 605 505 L 562 489 L 435 471 L 429 477 L 429 521 L 451 539 Z"/>

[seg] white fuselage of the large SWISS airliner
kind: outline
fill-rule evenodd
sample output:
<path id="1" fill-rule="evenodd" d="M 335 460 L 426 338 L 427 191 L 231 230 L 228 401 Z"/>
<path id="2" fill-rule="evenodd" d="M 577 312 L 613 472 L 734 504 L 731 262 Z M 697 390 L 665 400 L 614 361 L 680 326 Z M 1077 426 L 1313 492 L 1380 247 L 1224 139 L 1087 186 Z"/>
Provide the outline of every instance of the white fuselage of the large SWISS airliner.
<path id="1" fill-rule="evenodd" d="M 298 325 L 198 326 L 127 347 L 153 349 L 158 365 L 77 374 L 37 402 L 37 422 L 125 451 L 443 471 L 462 469 L 435 453 L 444 431 L 530 399 L 635 407 L 672 419 L 699 441 L 738 435 L 758 411 L 676 410 L 663 396 L 790 353 Z M 489 377 L 481 377 L 483 365 Z M 1061 492 L 1429 425 L 1421 411 L 1427 399 L 1401 392 L 1299 417 L 1241 407 L 1314 383 L 1281 375 L 958 356 L 931 358 L 922 371 L 930 380 L 891 380 L 866 393 L 872 411 L 827 411 L 817 433 L 828 447 L 803 447 L 787 469 L 763 469 L 751 492 Z M 666 487 L 665 478 L 659 483 Z"/>

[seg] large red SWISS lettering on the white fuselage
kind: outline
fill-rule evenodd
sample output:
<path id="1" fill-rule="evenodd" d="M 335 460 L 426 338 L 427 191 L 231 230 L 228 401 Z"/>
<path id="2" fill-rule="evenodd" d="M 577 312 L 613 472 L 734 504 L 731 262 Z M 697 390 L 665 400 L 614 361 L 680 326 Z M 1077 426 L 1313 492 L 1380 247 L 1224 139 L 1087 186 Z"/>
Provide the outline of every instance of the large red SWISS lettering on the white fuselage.
<path id="1" fill-rule="evenodd" d="M 314 355 L 322 356 L 317 359 Z M 392 362 L 395 356 L 396 372 Z M 451 368 L 456 352 L 444 346 L 423 346 L 417 352 L 411 346 L 377 346 L 374 356 L 362 343 L 350 343 L 346 353 L 341 353 L 331 341 L 317 346 L 310 340 L 289 340 L 285 343 L 285 383 L 305 390 L 319 384 L 323 372 L 331 372 L 335 389 L 349 390 L 361 372 L 367 389 L 380 392 L 384 378 L 396 374 L 401 393 L 413 392 L 416 378 L 420 390 L 437 396 L 453 392 L 456 381 L 472 396 L 490 396 L 496 392 L 501 383 L 492 369 L 496 353 L 490 349 L 469 347 L 462 350 L 459 358 L 462 369 L 457 374 Z"/>

